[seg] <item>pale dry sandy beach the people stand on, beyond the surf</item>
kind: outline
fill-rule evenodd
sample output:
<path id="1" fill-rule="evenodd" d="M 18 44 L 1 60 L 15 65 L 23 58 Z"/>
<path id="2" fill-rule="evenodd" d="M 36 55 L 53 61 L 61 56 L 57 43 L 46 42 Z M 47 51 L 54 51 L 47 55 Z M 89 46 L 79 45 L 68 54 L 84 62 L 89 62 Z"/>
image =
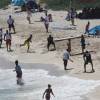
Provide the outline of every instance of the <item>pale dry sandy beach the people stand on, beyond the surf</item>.
<path id="1" fill-rule="evenodd" d="M 26 12 L 17 12 L 13 7 L 9 7 L 7 10 L 0 10 L 0 27 L 3 28 L 3 31 L 7 29 L 6 20 L 9 15 L 12 15 L 15 19 L 16 34 L 12 35 L 12 50 L 13 52 L 6 51 L 5 42 L 3 42 L 3 48 L 0 49 L 0 56 L 3 57 L 7 62 L 14 62 L 16 59 L 20 63 L 24 64 L 44 64 L 42 67 L 39 65 L 38 69 L 45 69 L 50 71 L 51 75 L 66 75 L 70 77 L 75 77 L 83 80 L 94 80 L 99 81 L 100 78 L 100 38 L 86 37 L 87 50 L 92 51 L 93 64 L 95 68 L 95 73 L 83 73 L 83 58 L 81 53 L 80 38 L 72 40 L 72 55 L 73 63 L 69 62 L 68 68 L 70 70 L 64 71 L 62 55 L 63 51 L 67 48 L 67 40 L 55 42 L 56 51 L 49 51 L 46 48 L 47 37 L 51 34 L 54 37 L 54 40 L 62 38 L 72 38 L 81 36 L 84 33 L 85 25 L 88 20 L 75 20 L 76 29 L 54 29 L 55 26 L 58 28 L 69 27 L 71 26 L 69 21 L 65 20 L 67 15 L 66 11 L 51 11 L 49 13 L 53 16 L 53 22 L 50 23 L 49 33 L 45 32 L 44 23 L 40 22 L 40 17 L 44 16 L 44 13 L 33 13 L 32 14 L 32 24 L 28 24 L 26 20 Z M 100 20 L 89 20 L 90 27 L 100 25 Z M 30 53 L 27 53 L 26 47 L 20 47 L 20 44 L 29 36 L 33 35 L 33 40 L 31 43 Z M 52 47 L 51 47 L 52 48 Z M 0 64 L 3 60 L 0 61 Z M 51 68 L 46 66 L 50 66 Z M 1 64 L 2 66 L 2 64 Z M 1 67 L 3 69 L 4 67 Z M 6 65 L 5 65 L 6 66 Z M 13 64 L 12 64 L 13 66 Z M 24 66 L 24 65 L 23 65 Z M 34 65 L 35 66 L 35 65 Z M 38 66 L 38 65 L 37 65 Z M 43 67 L 44 66 L 44 67 Z M 55 67 L 54 67 L 55 66 Z M 5 67 L 6 69 L 7 67 Z M 9 66 L 9 68 L 13 68 Z M 26 66 L 27 68 L 27 66 Z M 35 67 L 34 67 L 35 68 Z M 54 69 L 54 70 L 53 70 Z M 87 70 L 90 71 L 90 67 L 87 67 Z M 55 73 L 55 74 L 54 74 Z M 83 100 L 99 100 L 100 87 L 97 87 L 95 90 L 86 94 L 83 97 Z M 72 99 L 73 100 L 73 99 Z M 78 99 L 76 99 L 78 100 Z"/>

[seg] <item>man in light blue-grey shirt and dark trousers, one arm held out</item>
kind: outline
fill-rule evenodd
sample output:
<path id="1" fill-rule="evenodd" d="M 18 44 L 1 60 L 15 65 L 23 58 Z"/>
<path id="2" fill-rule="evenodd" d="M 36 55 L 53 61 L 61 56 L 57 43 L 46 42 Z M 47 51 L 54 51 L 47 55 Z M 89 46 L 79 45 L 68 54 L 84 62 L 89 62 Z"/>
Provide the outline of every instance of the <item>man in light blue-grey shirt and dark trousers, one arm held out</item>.
<path id="1" fill-rule="evenodd" d="M 63 53 L 64 70 L 67 70 L 68 60 L 73 62 L 73 60 L 70 59 L 70 54 L 68 52 L 68 49 L 66 49 L 66 51 Z"/>

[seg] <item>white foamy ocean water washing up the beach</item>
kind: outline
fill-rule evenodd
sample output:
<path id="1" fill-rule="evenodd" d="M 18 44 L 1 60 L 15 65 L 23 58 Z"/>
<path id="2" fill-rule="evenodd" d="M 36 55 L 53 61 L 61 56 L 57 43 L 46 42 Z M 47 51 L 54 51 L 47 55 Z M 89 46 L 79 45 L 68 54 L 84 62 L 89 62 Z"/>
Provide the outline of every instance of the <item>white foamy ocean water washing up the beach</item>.
<path id="1" fill-rule="evenodd" d="M 100 81 L 81 80 L 69 76 L 54 76 L 43 69 L 23 69 L 23 86 L 16 85 L 13 69 L 0 70 L 0 100 L 42 100 L 47 84 L 52 85 L 55 97 L 51 100 L 83 100 Z"/>

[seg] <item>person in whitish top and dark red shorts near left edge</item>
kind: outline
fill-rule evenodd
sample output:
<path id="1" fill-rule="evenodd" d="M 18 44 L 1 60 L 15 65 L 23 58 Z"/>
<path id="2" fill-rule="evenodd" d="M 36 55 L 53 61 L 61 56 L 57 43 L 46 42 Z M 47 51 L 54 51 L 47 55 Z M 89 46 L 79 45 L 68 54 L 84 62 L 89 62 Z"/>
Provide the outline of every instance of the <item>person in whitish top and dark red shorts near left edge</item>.
<path id="1" fill-rule="evenodd" d="M 9 33 L 8 30 L 6 30 L 6 33 L 4 35 L 4 41 L 6 41 L 7 51 L 11 51 L 11 40 L 12 40 L 11 33 Z"/>

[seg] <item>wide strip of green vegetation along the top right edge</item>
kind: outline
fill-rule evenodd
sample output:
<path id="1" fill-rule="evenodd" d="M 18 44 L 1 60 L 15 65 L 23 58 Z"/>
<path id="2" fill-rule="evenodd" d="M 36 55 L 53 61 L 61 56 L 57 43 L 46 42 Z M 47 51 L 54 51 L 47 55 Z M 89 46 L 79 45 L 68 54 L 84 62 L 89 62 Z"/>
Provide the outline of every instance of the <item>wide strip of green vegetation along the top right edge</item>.
<path id="1" fill-rule="evenodd" d="M 100 7 L 100 0 L 71 0 L 72 7 L 82 9 L 84 7 Z M 70 0 L 40 0 L 40 3 L 46 3 L 50 9 L 60 10 L 68 9 Z"/>

